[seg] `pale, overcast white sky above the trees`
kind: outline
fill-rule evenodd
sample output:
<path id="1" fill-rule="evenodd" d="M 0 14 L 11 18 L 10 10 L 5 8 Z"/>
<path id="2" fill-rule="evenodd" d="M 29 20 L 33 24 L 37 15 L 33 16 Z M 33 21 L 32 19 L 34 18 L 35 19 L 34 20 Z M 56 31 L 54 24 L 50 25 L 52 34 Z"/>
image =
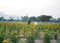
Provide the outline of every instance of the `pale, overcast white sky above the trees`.
<path id="1" fill-rule="evenodd" d="M 51 15 L 60 18 L 60 0 L 0 0 L 0 12 L 14 16 Z"/>

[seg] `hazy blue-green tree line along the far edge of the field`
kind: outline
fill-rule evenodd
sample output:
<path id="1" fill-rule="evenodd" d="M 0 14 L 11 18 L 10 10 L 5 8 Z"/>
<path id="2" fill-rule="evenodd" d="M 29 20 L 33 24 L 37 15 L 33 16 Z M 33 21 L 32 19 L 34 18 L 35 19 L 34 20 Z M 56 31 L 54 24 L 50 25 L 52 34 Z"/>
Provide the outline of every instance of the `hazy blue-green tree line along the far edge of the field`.
<path id="1" fill-rule="evenodd" d="M 5 19 L 3 16 L 0 17 L 0 21 L 22 21 L 22 22 L 27 22 L 27 20 L 30 18 L 32 22 L 60 22 L 60 18 L 55 20 L 51 18 L 53 18 L 52 16 L 48 16 L 48 15 L 41 15 L 41 16 L 22 16 L 21 19 L 14 19 L 14 17 L 9 17 L 10 19 Z"/>

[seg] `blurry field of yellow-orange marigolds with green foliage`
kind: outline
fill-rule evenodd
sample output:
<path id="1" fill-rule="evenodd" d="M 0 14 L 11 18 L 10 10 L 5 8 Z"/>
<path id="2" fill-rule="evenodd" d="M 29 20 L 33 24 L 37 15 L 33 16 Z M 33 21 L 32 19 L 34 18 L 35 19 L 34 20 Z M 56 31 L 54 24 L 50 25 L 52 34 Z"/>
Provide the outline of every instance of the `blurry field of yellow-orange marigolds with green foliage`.
<path id="1" fill-rule="evenodd" d="M 59 37 L 59 23 L 0 22 L 0 43 L 35 43 L 36 39 L 51 43 L 50 40 L 58 41 Z M 26 42 L 21 41 L 21 38 L 25 38 Z"/>

